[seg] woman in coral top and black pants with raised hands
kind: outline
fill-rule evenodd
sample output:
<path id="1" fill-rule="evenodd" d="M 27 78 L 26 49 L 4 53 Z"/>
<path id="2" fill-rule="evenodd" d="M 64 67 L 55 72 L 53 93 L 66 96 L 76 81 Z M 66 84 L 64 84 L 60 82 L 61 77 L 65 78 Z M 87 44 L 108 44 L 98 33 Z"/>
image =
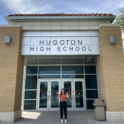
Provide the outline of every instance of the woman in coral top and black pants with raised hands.
<path id="1" fill-rule="evenodd" d="M 67 102 L 66 99 L 69 98 L 68 92 L 65 93 L 64 88 L 61 89 L 61 94 L 58 94 L 58 99 L 60 98 L 60 116 L 61 116 L 61 123 L 63 123 L 63 109 L 65 115 L 65 123 L 67 123 Z"/>

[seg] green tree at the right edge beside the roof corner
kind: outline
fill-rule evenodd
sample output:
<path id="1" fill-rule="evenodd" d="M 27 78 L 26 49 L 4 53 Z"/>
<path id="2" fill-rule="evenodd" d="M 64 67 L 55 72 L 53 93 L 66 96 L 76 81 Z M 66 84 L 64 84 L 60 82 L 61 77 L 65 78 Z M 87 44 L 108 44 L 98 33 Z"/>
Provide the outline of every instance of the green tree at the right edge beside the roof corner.
<path id="1" fill-rule="evenodd" d="M 124 32 L 124 8 L 119 8 L 114 24 L 120 24 L 122 32 Z"/>

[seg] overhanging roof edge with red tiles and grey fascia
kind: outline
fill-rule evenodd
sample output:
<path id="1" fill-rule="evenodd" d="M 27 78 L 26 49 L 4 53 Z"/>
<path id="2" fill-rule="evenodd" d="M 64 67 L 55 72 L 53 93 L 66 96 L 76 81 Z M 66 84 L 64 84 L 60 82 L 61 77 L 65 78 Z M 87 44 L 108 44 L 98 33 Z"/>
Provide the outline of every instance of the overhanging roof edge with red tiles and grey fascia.
<path id="1" fill-rule="evenodd" d="M 111 13 L 88 13 L 88 14 L 10 14 L 5 16 L 8 22 L 28 22 L 28 21 L 110 21 L 113 22 L 115 15 Z"/>

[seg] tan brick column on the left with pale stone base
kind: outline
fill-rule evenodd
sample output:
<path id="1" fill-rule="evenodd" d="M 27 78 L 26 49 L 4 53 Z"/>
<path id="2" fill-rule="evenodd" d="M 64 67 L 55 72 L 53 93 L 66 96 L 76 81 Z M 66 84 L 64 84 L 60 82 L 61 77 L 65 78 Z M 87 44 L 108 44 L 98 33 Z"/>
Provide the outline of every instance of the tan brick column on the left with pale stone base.
<path id="1" fill-rule="evenodd" d="M 11 36 L 5 44 L 4 37 Z M 14 122 L 21 117 L 24 57 L 21 56 L 22 29 L 0 27 L 0 122 Z"/>

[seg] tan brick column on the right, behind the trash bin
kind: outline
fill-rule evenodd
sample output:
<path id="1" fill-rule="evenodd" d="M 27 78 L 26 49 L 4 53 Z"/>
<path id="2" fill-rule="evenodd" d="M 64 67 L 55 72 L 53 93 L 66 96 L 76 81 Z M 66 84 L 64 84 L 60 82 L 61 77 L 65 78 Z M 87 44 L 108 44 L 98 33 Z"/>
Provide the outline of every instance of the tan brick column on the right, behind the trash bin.
<path id="1" fill-rule="evenodd" d="M 116 36 L 110 44 L 109 36 Z M 106 104 L 106 119 L 124 121 L 124 53 L 120 26 L 100 26 L 100 55 L 97 57 L 100 98 Z"/>

